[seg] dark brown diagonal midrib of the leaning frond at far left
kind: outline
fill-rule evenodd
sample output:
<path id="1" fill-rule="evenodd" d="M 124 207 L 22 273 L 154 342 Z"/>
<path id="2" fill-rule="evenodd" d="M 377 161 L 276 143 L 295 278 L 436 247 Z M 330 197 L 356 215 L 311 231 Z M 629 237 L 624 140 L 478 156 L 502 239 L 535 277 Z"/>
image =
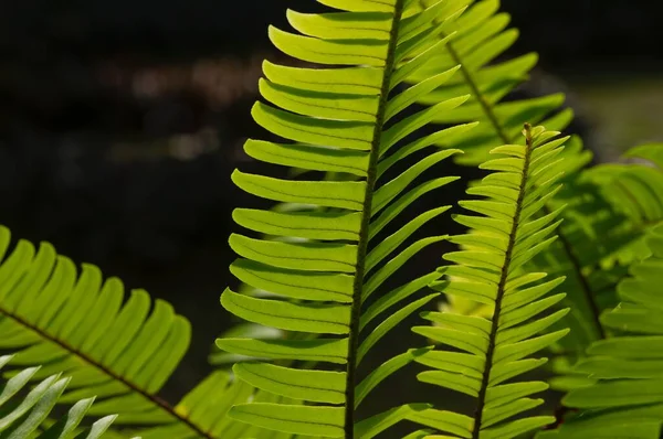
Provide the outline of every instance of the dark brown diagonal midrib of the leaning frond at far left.
<path id="1" fill-rule="evenodd" d="M 72 347 L 66 342 L 64 342 L 64 341 L 62 341 L 62 340 L 60 340 L 60 339 L 57 339 L 55 336 L 50 335 L 49 333 L 46 333 L 46 332 L 42 331 L 41 329 L 36 328 L 35 325 L 31 324 L 30 322 L 25 321 L 24 319 L 22 319 L 21 317 L 17 315 L 15 313 L 6 310 L 4 308 L 2 308 L 1 304 L 0 304 L 0 313 L 4 314 L 9 319 L 11 319 L 14 322 L 19 323 L 20 325 L 24 326 L 29 331 L 32 331 L 32 332 L 36 333 L 40 338 L 42 338 L 44 340 L 48 340 L 51 343 L 54 343 L 57 346 L 62 347 L 63 350 L 67 351 L 72 355 L 75 355 L 76 357 L 78 357 L 82 361 L 84 361 L 85 363 L 87 363 L 90 366 L 92 366 L 92 367 L 94 367 L 94 368 L 103 372 L 107 376 L 109 376 L 113 381 L 116 381 L 118 383 L 124 384 L 125 386 L 127 386 L 128 388 L 130 388 L 131 392 L 134 392 L 134 393 L 143 396 L 145 399 L 147 399 L 150 403 L 152 403 L 154 405 L 158 406 L 160 409 L 162 409 L 164 411 L 166 411 L 168 415 L 172 416 L 175 419 L 177 419 L 177 420 L 181 421 L 182 424 L 185 424 L 188 428 L 190 428 L 192 431 L 194 431 L 201 438 L 214 439 L 213 436 L 211 436 L 209 432 L 203 431 L 200 427 L 198 427 L 196 424 L 193 424 L 189 418 L 187 418 L 186 416 L 180 415 L 175 409 L 175 407 L 172 407 L 170 404 L 168 404 L 164 399 L 159 398 L 156 395 L 151 395 L 151 394 L 145 392 L 144 389 L 137 387 L 134 383 L 125 379 L 120 375 L 117 375 L 116 373 L 114 373 L 113 371 L 110 371 L 108 367 L 104 366 L 103 364 L 101 364 L 99 362 L 95 361 L 94 358 L 91 358 L 88 355 L 84 354 L 83 352 L 81 352 L 81 351 Z"/>

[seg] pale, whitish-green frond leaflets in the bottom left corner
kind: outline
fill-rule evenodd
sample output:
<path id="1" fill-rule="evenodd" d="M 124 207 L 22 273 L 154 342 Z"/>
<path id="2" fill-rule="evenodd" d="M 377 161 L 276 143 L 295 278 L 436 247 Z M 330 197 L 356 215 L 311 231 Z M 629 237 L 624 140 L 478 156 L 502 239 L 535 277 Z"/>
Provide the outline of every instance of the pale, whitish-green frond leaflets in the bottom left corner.
<path id="1" fill-rule="evenodd" d="M 12 360 L 11 355 L 0 356 L 0 371 Z M 78 428 L 83 417 L 91 411 L 94 397 L 81 399 L 56 422 L 49 415 L 71 382 L 71 378 L 55 374 L 40 381 L 28 390 L 34 375 L 41 367 L 13 371 L 9 379 L 0 379 L 0 437 L 7 439 L 96 439 L 104 436 L 117 418 L 106 416 L 86 429 Z M 74 403 L 73 400 L 71 403 Z"/>

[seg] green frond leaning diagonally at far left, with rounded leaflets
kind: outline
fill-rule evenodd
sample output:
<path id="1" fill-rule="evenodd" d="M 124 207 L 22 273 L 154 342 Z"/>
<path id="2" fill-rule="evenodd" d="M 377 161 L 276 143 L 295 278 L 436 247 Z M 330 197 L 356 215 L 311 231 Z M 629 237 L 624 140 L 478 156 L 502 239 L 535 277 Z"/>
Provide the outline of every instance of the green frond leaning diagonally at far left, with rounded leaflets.
<path id="1" fill-rule="evenodd" d="M 20 240 L 6 256 L 9 245 L 10 232 L 0 227 L 0 350 L 13 353 L 10 371 L 41 366 L 23 375 L 30 385 L 57 374 L 71 377 L 66 386 L 57 382 L 59 404 L 96 397 L 86 415 L 117 414 L 114 428 L 130 426 L 144 439 L 250 431 L 225 414 L 233 401 L 254 398 L 254 389 L 223 372 L 176 407 L 157 396 L 189 345 L 189 323 L 170 304 L 152 304 L 143 290 L 125 301 L 118 279 L 104 281 L 91 265 L 77 274 L 49 244 L 35 251 Z"/>

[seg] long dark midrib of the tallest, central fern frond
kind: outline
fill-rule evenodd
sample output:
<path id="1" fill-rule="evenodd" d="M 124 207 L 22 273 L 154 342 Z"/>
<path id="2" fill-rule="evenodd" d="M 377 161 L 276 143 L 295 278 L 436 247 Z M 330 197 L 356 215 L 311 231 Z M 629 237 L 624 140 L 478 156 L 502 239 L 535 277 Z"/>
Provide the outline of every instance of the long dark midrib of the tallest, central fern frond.
<path id="1" fill-rule="evenodd" d="M 369 158 L 368 172 L 366 178 L 366 193 L 364 196 L 361 228 L 359 229 L 359 239 L 357 243 L 357 268 L 355 281 L 352 285 L 352 308 L 350 311 L 350 331 L 348 334 L 348 366 L 346 374 L 346 413 L 345 413 L 345 438 L 355 437 L 355 385 L 357 371 L 357 352 L 359 347 L 359 323 L 361 318 L 361 296 L 364 292 L 364 276 L 366 274 L 366 255 L 368 240 L 370 237 L 370 220 L 372 213 L 373 189 L 378 179 L 378 160 L 380 158 L 380 140 L 386 122 L 387 104 L 389 101 L 389 90 L 391 85 L 391 75 L 394 67 L 396 46 L 399 38 L 399 23 L 402 18 L 406 0 L 397 0 L 393 9 L 393 19 L 389 32 L 389 46 L 382 84 L 380 86 L 380 101 L 376 117 L 376 125 L 371 139 L 371 150 Z"/>

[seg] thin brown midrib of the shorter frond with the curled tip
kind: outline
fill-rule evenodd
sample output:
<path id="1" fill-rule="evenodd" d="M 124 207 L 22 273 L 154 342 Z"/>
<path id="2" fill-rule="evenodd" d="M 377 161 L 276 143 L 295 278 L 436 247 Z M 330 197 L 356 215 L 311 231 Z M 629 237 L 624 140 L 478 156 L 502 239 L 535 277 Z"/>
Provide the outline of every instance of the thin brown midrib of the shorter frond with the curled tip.
<path id="1" fill-rule="evenodd" d="M 493 313 L 493 321 L 491 323 L 491 334 L 488 336 L 488 350 L 486 351 L 486 360 L 484 366 L 484 373 L 482 377 L 481 388 L 478 390 L 478 403 L 476 411 L 474 413 L 474 428 L 472 429 L 472 439 L 478 439 L 481 435 L 481 426 L 483 421 L 483 410 L 486 401 L 486 393 L 488 389 L 488 382 L 491 379 L 491 370 L 493 364 L 493 355 L 495 354 L 495 340 L 497 338 L 497 330 L 499 328 L 499 314 L 502 312 L 502 299 L 506 291 L 506 281 L 508 279 L 511 259 L 516 246 L 516 235 L 520 225 L 520 212 L 523 210 L 523 202 L 525 200 L 525 188 L 527 185 L 527 175 L 529 174 L 529 161 L 532 158 L 533 138 L 532 138 L 532 126 L 525 125 L 526 131 L 526 147 L 525 147 L 525 159 L 523 163 L 523 176 L 520 179 L 520 188 L 518 189 L 518 200 L 516 201 L 516 212 L 514 213 L 514 222 L 508 236 L 508 244 L 506 246 L 506 253 L 504 255 L 504 265 L 502 266 L 502 274 L 499 275 L 499 283 L 497 283 L 497 296 L 495 298 L 495 312 Z"/>

